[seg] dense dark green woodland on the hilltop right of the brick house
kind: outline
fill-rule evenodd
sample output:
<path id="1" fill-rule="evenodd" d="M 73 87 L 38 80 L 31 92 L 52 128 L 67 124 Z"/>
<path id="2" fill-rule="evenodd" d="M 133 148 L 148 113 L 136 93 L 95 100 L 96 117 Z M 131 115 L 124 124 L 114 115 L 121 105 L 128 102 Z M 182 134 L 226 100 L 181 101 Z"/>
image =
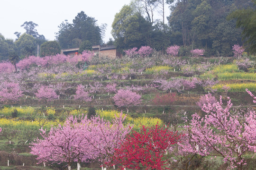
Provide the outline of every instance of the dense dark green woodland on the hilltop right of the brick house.
<path id="1" fill-rule="evenodd" d="M 164 18 L 154 20 L 164 9 L 159 4 L 170 6 L 168 24 Z M 256 0 L 134 0 L 115 15 L 112 35 L 120 51 L 142 45 L 165 51 L 176 44 L 183 46 L 181 55 L 200 48 L 206 56 L 230 56 L 234 44 L 243 44 L 255 52 L 250 47 L 256 44 L 254 4 Z M 249 23 L 254 27 L 246 32 Z"/>

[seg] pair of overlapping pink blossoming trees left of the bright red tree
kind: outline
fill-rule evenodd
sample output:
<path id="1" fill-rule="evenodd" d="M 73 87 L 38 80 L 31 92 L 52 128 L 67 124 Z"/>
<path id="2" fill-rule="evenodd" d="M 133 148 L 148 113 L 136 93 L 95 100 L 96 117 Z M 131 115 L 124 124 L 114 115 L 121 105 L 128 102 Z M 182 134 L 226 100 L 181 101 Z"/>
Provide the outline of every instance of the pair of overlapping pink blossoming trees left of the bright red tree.
<path id="1" fill-rule="evenodd" d="M 42 139 L 32 142 L 31 153 L 37 155 L 39 163 L 66 162 L 68 170 L 73 162 L 78 163 L 79 170 L 81 162 L 89 161 L 96 161 L 109 169 L 114 148 L 118 148 L 130 132 L 129 125 L 123 125 L 125 117 L 120 113 L 112 122 L 100 117 L 69 117 L 63 126 L 52 127 L 49 133 L 42 130 Z"/>

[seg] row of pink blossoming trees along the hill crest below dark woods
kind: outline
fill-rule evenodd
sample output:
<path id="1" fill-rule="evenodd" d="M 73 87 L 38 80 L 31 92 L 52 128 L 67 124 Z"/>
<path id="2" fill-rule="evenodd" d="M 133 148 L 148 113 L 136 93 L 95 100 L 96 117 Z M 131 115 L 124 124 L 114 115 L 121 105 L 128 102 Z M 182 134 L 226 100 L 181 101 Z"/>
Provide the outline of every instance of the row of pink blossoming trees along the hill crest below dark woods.
<path id="1" fill-rule="evenodd" d="M 180 46 L 173 45 L 166 49 L 166 53 L 171 56 L 177 56 L 178 52 L 180 50 Z M 242 53 L 244 52 L 244 48 L 239 46 L 238 44 L 234 45 L 232 47 L 234 57 L 241 57 Z M 142 46 L 139 49 L 136 47 L 132 49 L 128 49 L 124 51 L 128 57 L 135 57 L 137 55 L 140 55 L 142 57 L 148 57 L 154 50 L 149 46 Z M 190 51 L 192 56 L 198 57 L 204 54 L 203 49 L 194 49 Z M 46 67 L 51 64 L 60 64 L 63 62 L 69 62 L 69 63 L 77 63 L 78 61 L 90 61 L 93 57 L 94 53 L 91 51 L 83 51 L 81 55 L 76 56 L 66 56 L 64 54 L 57 54 L 55 56 L 46 56 L 46 57 L 36 57 L 36 56 L 29 56 L 25 59 L 20 60 L 16 66 L 18 69 L 26 69 L 30 65 L 37 65 Z M 15 67 L 11 64 L 11 62 L 1 62 L 0 63 L 0 72 L 12 72 L 15 71 Z"/>

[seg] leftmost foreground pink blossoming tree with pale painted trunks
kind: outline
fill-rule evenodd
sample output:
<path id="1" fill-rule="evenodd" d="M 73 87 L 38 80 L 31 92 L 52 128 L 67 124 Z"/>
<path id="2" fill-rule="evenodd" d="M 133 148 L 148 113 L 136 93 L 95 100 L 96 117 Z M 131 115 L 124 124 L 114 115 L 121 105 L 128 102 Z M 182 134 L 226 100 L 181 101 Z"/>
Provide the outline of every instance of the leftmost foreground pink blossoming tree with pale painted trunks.
<path id="1" fill-rule="evenodd" d="M 83 122 L 85 123 L 85 121 Z M 88 122 L 85 124 L 88 125 Z M 32 142 L 31 152 L 37 155 L 38 163 L 53 162 L 68 164 L 68 170 L 71 170 L 71 164 L 76 161 L 86 161 L 93 159 L 92 148 L 84 140 L 84 137 L 91 132 L 82 127 L 77 119 L 69 117 L 63 126 L 51 128 L 49 133 L 42 130 L 41 136 L 43 139 L 37 139 Z M 98 153 L 95 153 L 97 155 Z M 79 166 L 78 166 L 79 167 Z M 79 169 L 79 168 L 78 168 Z"/>

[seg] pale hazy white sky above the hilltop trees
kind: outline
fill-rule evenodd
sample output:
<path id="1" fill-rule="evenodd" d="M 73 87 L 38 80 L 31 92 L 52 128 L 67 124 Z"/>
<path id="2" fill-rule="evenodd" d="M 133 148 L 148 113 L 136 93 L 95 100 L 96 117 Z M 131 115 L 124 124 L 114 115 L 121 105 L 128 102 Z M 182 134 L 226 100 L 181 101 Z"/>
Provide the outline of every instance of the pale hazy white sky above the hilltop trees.
<path id="1" fill-rule="evenodd" d="M 20 27 L 25 21 L 33 21 L 38 34 L 47 40 L 55 40 L 58 26 L 67 19 L 72 23 L 81 11 L 94 17 L 97 24 L 107 24 L 105 42 L 111 36 L 111 25 L 116 13 L 130 0 L 0 0 L 0 33 L 5 38 L 16 39 L 16 31 L 25 33 Z"/>

